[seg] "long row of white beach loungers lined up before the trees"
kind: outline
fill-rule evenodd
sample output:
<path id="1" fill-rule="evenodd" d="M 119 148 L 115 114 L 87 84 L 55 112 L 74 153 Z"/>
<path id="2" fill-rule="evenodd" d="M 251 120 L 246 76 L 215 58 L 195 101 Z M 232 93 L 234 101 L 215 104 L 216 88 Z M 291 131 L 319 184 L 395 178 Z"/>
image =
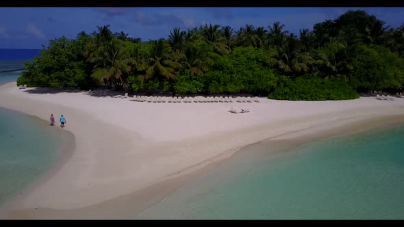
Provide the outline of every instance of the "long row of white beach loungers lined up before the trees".
<path id="1" fill-rule="evenodd" d="M 260 103 L 258 98 L 238 97 L 232 98 L 229 96 L 197 96 L 197 97 L 161 97 L 161 96 L 134 96 L 130 101 L 147 102 L 147 103 Z"/>

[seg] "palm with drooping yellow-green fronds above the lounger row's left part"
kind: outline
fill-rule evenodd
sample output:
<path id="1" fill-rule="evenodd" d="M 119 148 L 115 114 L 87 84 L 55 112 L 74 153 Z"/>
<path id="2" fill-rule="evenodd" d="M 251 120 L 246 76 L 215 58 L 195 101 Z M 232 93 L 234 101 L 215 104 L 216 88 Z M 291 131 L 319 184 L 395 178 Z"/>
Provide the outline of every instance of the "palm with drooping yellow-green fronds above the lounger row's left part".
<path id="1" fill-rule="evenodd" d="M 174 62 L 171 55 L 171 48 L 164 39 L 151 41 L 151 51 L 147 59 L 146 79 L 151 79 L 156 75 L 161 75 L 167 79 L 173 78 L 175 69 L 181 64 Z"/>

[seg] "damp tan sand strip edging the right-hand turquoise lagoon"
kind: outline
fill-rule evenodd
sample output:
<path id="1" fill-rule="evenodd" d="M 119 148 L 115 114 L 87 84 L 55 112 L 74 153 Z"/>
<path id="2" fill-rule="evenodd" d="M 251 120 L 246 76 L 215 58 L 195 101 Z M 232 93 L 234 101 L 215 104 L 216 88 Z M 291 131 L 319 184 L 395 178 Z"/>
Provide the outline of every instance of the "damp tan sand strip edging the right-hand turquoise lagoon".
<path id="1" fill-rule="evenodd" d="M 349 135 L 357 135 L 367 131 L 391 129 L 400 124 L 404 126 L 404 114 L 392 116 L 370 117 L 355 121 L 354 125 L 344 122 L 338 126 L 331 126 L 329 129 L 320 129 L 310 132 L 310 129 L 303 129 L 299 132 L 288 132 L 283 135 L 270 137 L 260 142 L 248 144 L 240 150 L 236 150 L 227 157 L 218 159 L 212 158 L 212 161 L 203 165 L 196 170 L 176 174 L 164 181 L 155 183 L 149 187 L 145 187 L 138 191 L 131 192 L 127 195 L 118 196 L 79 209 L 23 209 L 9 213 L 9 219 L 137 219 L 136 215 L 145 211 L 151 206 L 164 200 L 167 196 L 177 189 L 184 187 L 199 176 L 209 174 L 219 165 L 225 164 L 232 159 L 238 159 L 243 155 L 262 155 L 262 147 L 268 148 L 268 144 L 272 148 L 265 150 L 264 155 L 276 154 L 281 152 L 291 152 L 294 148 L 299 148 L 307 143 L 318 142 L 333 137 L 347 137 Z M 353 129 L 353 130 L 352 130 Z M 299 134 L 300 133 L 300 134 Z M 299 135 L 297 135 L 299 134 Z M 284 135 L 288 135 L 285 138 Z M 257 147 L 261 149 L 257 150 Z M 222 155 L 219 155 L 222 156 Z M 201 163 L 197 164 L 200 165 Z M 115 213 L 114 213 L 115 212 Z"/>

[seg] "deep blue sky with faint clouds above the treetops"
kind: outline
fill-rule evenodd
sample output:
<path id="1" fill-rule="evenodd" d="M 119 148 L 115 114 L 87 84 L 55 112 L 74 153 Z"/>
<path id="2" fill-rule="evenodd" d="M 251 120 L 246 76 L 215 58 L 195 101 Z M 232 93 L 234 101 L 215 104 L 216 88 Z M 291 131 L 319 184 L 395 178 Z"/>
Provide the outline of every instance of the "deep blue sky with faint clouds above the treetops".
<path id="1" fill-rule="evenodd" d="M 404 8 L 0 8 L 0 49 L 40 49 L 60 36 L 75 38 L 97 25 L 111 25 L 142 40 L 166 38 L 174 27 L 199 27 L 204 23 L 246 24 L 267 27 L 275 21 L 298 33 L 314 23 L 333 19 L 347 10 L 365 10 L 392 27 L 404 22 Z"/>

